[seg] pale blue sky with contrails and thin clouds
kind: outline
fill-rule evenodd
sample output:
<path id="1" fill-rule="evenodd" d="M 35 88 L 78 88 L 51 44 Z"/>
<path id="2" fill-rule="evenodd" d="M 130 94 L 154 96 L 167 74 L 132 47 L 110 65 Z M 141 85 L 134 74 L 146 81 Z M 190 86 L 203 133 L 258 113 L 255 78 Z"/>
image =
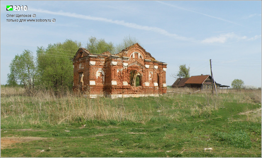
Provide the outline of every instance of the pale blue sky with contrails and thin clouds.
<path id="1" fill-rule="evenodd" d="M 31 17 L 10 17 L 16 14 Z M 51 22 L 12 22 L 20 19 Z M 129 35 L 167 63 L 166 85 L 181 64 L 190 76 L 211 74 L 211 59 L 217 83 L 241 79 L 261 87 L 261 1 L 1 1 L 1 85 L 25 49 L 36 56 L 37 47 L 66 39 L 85 47 L 93 36 L 117 45 Z"/>

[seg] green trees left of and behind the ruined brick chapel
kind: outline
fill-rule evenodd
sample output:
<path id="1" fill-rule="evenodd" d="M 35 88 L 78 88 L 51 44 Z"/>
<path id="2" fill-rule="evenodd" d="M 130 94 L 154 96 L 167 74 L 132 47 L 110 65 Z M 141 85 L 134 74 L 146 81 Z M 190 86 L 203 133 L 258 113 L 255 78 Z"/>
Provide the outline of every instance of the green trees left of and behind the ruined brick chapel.
<path id="1" fill-rule="evenodd" d="M 107 51 L 117 54 L 135 43 L 140 44 L 130 35 L 115 46 L 112 42 L 91 36 L 85 48 L 93 54 Z M 72 58 L 80 47 L 82 47 L 80 42 L 66 39 L 63 43 L 48 44 L 47 48 L 37 47 L 36 57 L 30 50 L 24 50 L 22 54 L 15 55 L 9 65 L 10 73 L 7 74 L 7 85 L 17 86 L 20 83 L 29 95 L 35 89 L 53 89 L 56 93 L 72 89 Z"/>

